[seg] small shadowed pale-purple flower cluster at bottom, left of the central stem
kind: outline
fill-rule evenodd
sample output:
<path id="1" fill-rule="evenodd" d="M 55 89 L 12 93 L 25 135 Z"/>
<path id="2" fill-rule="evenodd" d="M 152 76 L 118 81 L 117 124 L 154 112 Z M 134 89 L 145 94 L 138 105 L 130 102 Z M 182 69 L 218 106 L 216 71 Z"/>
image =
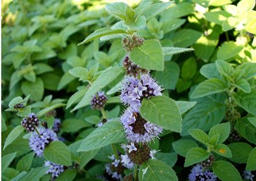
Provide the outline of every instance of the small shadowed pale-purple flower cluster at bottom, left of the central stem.
<path id="1" fill-rule="evenodd" d="M 116 180 L 122 180 L 122 175 L 124 174 L 125 167 L 122 165 L 120 159 L 116 159 L 115 155 L 109 157 L 112 163 L 108 163 L 105 165 L 106 172 L 112 178 Z"/>

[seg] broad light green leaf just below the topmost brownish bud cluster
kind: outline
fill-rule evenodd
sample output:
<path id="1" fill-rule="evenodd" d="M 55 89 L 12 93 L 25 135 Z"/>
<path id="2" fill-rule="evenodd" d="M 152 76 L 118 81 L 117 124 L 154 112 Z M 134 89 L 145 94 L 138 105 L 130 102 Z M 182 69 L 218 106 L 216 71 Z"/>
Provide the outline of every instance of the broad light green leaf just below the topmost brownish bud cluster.
<path id="1" fill-rule="evenodd" d="M 131 60 L 146 69 L 163 71 L 164 57 L 159 41 L 146 40 L 140 47 L 135 47 L 130 53 Z"/>

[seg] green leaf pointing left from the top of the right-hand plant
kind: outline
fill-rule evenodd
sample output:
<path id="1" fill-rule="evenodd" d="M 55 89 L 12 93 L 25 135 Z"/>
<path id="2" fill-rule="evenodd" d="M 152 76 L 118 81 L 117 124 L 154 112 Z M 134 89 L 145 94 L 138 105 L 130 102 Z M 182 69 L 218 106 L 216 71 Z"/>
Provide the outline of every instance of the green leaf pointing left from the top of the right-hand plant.
<path id="1" fill-rule="evenodd" d="M 201 98 L 215 93 L 220 93 L 228 89 L 227 83 L 218 78 L 210 78 L 200 83 L 191 94 L 191 98 Z"/>

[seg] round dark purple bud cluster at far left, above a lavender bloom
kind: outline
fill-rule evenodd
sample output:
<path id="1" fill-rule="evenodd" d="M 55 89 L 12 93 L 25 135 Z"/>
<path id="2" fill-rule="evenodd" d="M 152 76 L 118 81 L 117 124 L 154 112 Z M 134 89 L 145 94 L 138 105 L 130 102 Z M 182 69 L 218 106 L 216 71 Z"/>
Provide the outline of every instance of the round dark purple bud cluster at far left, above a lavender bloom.
<path id="1" fill-rule="evenodd" d="M 39 126 L 39 119 L 36 117 L 35 113 L 31 113 L 28 117 L 25 117 L 20 124 L 26 129 L 26 131 L 33 132 L 36 127 Z"/>

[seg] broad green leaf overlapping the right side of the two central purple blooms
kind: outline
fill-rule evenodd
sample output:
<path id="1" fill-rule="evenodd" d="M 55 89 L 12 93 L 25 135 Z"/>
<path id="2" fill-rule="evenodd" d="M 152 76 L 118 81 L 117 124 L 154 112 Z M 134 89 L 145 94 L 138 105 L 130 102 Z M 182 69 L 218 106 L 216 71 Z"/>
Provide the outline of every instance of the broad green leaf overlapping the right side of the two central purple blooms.
<path id="1" fill-rule="evenodd" d="M 156 96 L 150 99 L 143 99 L 140 108 L 141 116 L 171 131 L 181 131 L 181 117 L 179 108 L 175 101 L 165 96 Z"/>

